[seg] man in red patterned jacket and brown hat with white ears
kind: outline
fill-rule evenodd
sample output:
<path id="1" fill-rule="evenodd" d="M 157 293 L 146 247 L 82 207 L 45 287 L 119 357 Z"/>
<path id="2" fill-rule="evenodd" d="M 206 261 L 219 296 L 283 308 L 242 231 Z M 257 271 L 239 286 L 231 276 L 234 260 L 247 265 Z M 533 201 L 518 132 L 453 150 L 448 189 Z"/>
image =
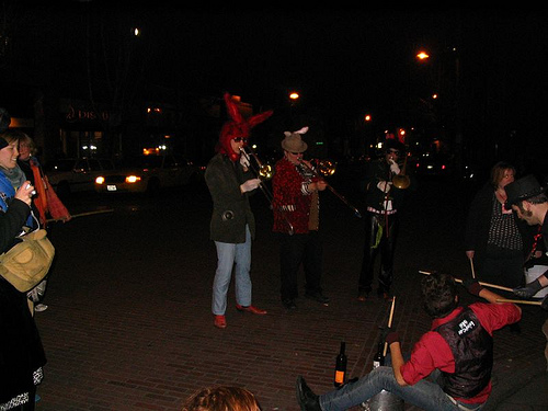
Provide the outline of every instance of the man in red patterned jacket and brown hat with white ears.
<path id="1" fill-rule="evenodd" d="M 281 297 L 288 310 L 297 308 L 297 274 L 301 263 L 306 275 L 305 297 L 326 306 L 329 304 L 321 288 L 322 243 L 318 232 L 318 192 L 324 191 L 327 183 L 316 179 L 310 162 L 302 159 L 308 146 L 301 135 L 307 130 L 308 127 L 285 132 L 284 157 L 276 162 L 272 180 L 273 231 L 279 239 Z"/>

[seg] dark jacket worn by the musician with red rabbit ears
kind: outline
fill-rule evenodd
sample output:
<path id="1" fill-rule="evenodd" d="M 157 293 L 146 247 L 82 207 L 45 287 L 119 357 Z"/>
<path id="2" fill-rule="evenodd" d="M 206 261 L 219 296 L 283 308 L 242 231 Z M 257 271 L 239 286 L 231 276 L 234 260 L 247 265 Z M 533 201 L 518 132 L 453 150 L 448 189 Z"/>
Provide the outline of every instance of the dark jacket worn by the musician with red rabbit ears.
<path id="1" fill-rule="evenodd" d="M 249 193 L 242 194 L 240 185 L 254 175 L 228 156 L 217 153 L 207 164 L 205 181 L 213 199 L 209 225 L 210 239 L 227 243 L 246 242 L 246 225 L 251 238 L 255 237 L 255 218 L 249 204 Z"/>

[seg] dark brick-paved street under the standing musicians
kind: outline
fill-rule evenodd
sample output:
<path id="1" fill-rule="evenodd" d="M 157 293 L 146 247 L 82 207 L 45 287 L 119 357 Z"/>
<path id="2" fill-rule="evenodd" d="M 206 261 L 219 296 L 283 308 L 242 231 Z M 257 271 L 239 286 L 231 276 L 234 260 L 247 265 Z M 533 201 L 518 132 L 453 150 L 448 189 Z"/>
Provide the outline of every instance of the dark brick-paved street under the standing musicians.
<path id="1" fill-rule="evenodd" d="M 344 194 L 361 208 L 359 192 Z M 318 392 L 332 389 L 342 340 L 349 375 L 370 369 L 390 304 L 356 300 L 363 222 L 332 193 L 322 193 L 321 215 L 330 306 L 299 298 L 298 310 L 282 307 L 272 217 L 258 192 L 253 304 L 269 315 L 237 312 L 231 287 L 225 330 L 213 327 L 210 313 L 216 253 L 208 240 L 206 191 L 193 187 L 157 201 L 102 199 L 99 208 L 95 203 L 92 196 L 68 205 L 72 214 L 112 212 L 50 230 L 57 259 L 45 300 L 49 308 L 36 313 L 48 358 L 38 411 L 176 411 L 185 397 L 210 385 L 244 386 L 263 411 L 297 411 L 297 375 Z M 461 247 L 464 203 L 450 185 L 424 183 L 401 216 L 393 327 L 404 350 L 430 323 L 418 298 L 419 271 L 469 274 Z M 465 292 L 463 298 L 471 300 Z M 546 312 L 522 308 L 522 332 L 495 334 L 494 402 L 506 395 L 503 381 L 525 383 L 532 369 L 546 367 Z"/>

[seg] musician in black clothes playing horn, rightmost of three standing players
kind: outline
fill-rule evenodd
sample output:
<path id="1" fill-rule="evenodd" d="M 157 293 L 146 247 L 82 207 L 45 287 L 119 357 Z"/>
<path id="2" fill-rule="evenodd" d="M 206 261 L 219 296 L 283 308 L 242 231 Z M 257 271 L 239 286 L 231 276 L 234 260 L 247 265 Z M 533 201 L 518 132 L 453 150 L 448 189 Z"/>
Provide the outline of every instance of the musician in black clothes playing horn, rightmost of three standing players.
<path id="1" fill-rule="evenodd" d="M 362 269 L 359 272 L 359 301 L 365 301 L 373 289 L 373 270 L 380 252 L 380 272 L 377 295 L 391 300 L 390 286 L 393 279 L 393 255 L 398 237 L 398 209 L 401 207 L 407 190 L 414 190 L 415 181 L 410 179 L 409 189 L 398 189 L 392 184 L 395 175 L 401 175 L 399 162 L 404 159 L 406 146 L 397 138 L 386 138 L 384 156 L 367 168 L 365 243 Z"/>

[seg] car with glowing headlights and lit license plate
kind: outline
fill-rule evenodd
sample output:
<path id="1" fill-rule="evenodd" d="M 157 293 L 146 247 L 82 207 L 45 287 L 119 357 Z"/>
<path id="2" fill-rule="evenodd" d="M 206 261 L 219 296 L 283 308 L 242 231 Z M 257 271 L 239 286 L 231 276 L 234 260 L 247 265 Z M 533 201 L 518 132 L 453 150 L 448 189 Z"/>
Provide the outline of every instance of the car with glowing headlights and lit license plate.
<path id="1" fill-rule="evenodd" d="M 112 172 L 95 178 L 98 193 L 157 194 L 167 187 L 179 187 L 199 179 L 199 168 L 178 155 L 137 156 Z"/>

